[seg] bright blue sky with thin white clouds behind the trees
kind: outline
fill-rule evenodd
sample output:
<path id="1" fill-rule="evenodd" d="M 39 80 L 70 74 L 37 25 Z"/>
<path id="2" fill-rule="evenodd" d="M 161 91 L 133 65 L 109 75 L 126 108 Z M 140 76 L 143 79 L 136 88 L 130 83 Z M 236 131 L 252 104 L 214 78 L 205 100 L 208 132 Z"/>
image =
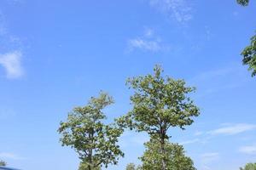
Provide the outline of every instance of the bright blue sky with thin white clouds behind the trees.
<path id="1" fill-rule="evenodd" d="M 131 0 L 0 2 L 0 159 L 24 170 L 77 169 L 61 147 L 59 122 L 100 90 L 113 95 L 109 120 L 131 109 L 127 77 L 183 78 L 201 116 L 170 129 L 199 170 L 236 170 L 256 160 L 256 79 L 241 49 L 256 30 L 256 2 Z M 145 133 L 125 132 L 125 158 L 139 163 Z"/>

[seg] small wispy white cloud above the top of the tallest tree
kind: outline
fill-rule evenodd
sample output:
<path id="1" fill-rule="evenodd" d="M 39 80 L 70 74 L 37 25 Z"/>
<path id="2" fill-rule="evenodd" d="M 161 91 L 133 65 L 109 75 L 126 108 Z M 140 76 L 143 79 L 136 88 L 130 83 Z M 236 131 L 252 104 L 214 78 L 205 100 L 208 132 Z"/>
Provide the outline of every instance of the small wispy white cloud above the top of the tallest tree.
<path id="1" fill-rule="evenodd" d="M 160 37 L 156 36 L 153 29 L 145 29 L 143 36 L 128 40 L 128 51 L 140 49 L 149 52 L 160 52 L 167 50 L 168 45 L 164 44 Z"/>

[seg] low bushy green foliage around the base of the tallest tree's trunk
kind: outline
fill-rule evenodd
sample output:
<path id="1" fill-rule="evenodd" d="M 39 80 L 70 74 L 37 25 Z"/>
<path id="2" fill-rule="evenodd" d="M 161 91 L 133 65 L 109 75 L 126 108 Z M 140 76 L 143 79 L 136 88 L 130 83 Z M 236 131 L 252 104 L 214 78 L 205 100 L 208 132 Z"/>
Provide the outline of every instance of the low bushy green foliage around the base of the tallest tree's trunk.
<path id="1" fill-rule="evenodd" d="M 142 170 L 161 170 L 161 159 L 166 157 L 166 170 L 195 170 L 193 161 L 185 156 L 183 146 L 179 144 L 172 144 L 166 140 L 165 156 L 161 150 L 160 143 L 155 139 L 150 139 L 145 144 L 146 150 L 142 157 Z"/>

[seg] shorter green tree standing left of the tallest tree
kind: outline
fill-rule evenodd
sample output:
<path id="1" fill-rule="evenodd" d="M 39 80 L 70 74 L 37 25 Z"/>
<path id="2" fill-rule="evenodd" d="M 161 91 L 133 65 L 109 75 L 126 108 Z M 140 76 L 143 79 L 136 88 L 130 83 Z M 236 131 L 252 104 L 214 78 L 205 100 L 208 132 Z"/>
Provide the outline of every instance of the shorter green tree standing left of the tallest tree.
<path id="1" fill-rule="evenodd" d="M 113 98 L 100 93 L 98 98 L 91 97 L 88 105 L 75 107 L 61 122 L 62 145 L 71 146 L 81 160 L 80 169 L 96 170 L 108 164 L 117 164 L 124 153 L 119 149 L 118 139 L 123 130 L 114 124 L 104 124 L 107 117 L 102 110 L 113 104 Z"/>

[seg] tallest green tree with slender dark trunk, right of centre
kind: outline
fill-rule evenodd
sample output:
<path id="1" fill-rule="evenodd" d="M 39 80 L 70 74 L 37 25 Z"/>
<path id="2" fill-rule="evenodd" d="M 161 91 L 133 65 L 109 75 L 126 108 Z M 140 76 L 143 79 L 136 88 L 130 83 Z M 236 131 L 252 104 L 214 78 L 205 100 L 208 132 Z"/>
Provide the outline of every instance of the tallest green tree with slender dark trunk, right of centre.
<path id="1" fill-rule="evenodd" d="M 195 88 L 185 86 L 183 80 L 162 77 L 159 65 L 154 67 L 154 75 L 129 78 L 127 84 L 135 90 L 131 96 L 132 110 L 117 122 L 122 127 L 135 127 L 137 132 L 147 132 L 160 142 L 160 153 L 165 156 L 165 142 L 170 136 L 170 127 L 191 125 L 193 116 L 199 116 L 199 109 L 187 94 Z M 166 158 L 161 159 L 162 170 L 166 170 Z"/>

